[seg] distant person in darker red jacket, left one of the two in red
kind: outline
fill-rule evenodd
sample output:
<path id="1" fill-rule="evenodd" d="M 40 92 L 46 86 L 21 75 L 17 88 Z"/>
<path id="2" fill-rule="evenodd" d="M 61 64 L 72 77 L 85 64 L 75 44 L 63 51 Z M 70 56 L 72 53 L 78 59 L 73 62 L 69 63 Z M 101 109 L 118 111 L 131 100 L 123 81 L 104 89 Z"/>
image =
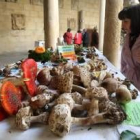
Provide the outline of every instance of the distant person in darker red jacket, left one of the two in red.
<path id="1" fill-rule="evenodd" d="M 71 33 L 71 29 L 70 28 L 67 29 L 66 33 L 64 33 L 63 38 L 64 38 L 64 42 L 67 45 L 71 45 L 72 44 L 72 33 Z"/>

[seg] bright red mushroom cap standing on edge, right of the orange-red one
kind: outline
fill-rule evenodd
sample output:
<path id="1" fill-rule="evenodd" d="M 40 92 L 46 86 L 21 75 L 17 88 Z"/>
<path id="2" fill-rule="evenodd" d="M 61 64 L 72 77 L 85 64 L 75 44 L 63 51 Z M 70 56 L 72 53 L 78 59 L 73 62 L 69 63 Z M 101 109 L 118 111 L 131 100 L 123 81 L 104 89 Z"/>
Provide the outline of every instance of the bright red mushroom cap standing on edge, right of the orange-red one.
<path id="1" fill-rule="evenodd" d="M 37 86 L 35 84 L 35 78 L 37 75 L 37 64 L 33 59 L 26 59 L 22 62 L 21 68 L 28 92 L 31 96 L 34 96 L 37 89 Z"/>

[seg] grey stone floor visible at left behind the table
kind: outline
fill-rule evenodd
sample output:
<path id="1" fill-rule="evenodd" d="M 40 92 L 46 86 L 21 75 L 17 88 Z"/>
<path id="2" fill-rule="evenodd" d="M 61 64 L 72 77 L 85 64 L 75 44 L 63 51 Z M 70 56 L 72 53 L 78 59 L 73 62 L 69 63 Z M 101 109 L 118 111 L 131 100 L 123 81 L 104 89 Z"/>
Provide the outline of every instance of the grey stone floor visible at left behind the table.
<path id="1" fill-rule="evenodd" d="M 0 54 L 0 68 L 28 57 L 28 52 L 11 52 Z"/>

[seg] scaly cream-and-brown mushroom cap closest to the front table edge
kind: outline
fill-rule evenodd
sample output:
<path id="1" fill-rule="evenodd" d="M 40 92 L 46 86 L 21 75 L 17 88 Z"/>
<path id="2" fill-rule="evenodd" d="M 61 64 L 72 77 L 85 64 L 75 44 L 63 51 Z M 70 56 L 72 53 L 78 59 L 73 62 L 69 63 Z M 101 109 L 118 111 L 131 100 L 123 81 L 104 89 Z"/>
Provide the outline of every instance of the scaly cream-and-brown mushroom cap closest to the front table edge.
<path id="1" fill-rule="evenodd" d="M 65 136 L 70 131 L 71 110 L 67 104 L 56 105 L 49 116 L 50 130 L 58 136 Z"/>

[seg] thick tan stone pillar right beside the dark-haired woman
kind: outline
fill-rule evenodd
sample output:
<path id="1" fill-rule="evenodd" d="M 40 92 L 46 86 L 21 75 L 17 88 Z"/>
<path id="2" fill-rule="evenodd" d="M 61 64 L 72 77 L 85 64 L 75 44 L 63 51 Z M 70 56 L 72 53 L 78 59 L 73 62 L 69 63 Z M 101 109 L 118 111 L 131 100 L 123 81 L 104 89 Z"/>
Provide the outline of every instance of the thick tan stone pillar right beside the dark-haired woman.
<path id="1" fill-rule="evenodd" d="M 106 0 L 103 54 L 116 67 L 120 65 L 121 21 L 118 19 L 118 13 L 122 8 L 123 0 Z"/>

